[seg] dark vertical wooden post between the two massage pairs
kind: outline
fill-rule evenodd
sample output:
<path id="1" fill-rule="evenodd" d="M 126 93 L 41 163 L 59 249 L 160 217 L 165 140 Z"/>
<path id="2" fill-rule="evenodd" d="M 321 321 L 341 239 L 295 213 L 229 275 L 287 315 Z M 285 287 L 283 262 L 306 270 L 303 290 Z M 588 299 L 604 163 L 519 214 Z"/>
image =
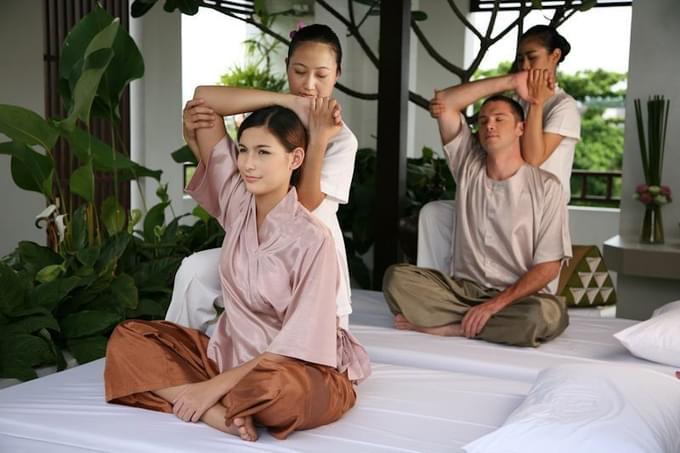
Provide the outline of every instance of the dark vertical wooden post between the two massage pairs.
<path id="1" fill-rule="evenodd" d="M 382 288 L 385 269 L 401 261 L 399 219 L 406 196 L 411 0 L 393 0 L 380 8 L 378 76 L 378 156 L 373 287 Z"/>

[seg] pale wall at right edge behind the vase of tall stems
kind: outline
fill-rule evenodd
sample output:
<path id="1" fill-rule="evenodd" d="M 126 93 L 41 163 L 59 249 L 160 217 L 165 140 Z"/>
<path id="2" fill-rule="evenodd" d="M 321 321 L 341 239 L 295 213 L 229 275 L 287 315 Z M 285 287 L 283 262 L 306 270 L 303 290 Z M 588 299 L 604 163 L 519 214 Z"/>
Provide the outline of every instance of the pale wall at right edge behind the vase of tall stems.
<path id="1" fill-rule="evenodd" d="M 644 101 L 663 94 L 671 101 L 663 182 L 671 187 L 675 201 L 663 208 L 666 241 L 680 237 L 680 4 L 677 0 L 636 1 L 633 17 L 626 95 L 626 129 L 623 151 L 623 191 L 619 230 L 636 238 L 644 209 L 632 199 L 635 186 L 644 182 L 633 100 Z M 646 107 L 643 106 L 643 110 Z"/>

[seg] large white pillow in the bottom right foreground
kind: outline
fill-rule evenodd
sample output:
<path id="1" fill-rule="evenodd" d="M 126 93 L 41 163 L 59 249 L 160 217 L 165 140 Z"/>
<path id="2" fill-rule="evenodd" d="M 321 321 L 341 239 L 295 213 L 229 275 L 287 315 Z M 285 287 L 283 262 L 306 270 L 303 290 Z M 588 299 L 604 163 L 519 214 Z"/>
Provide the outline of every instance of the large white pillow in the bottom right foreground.
<path id="1" fill-rule="evenodd" d="M 680 452 L 680 381 L 644 367 L 569 364 L 539 373 L 503 426 L 468 453 Z"/>

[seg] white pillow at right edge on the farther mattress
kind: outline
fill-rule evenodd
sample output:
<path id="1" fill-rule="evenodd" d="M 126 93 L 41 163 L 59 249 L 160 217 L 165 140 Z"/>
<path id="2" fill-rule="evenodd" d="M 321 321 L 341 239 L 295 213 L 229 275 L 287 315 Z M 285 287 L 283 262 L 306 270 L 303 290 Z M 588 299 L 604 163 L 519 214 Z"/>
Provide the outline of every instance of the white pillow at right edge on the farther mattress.
<path id="1" fill-rule="evenodd" d="M 614 334 L 631 354 L 680 367 L 680 301 L 658 308 L 647 321 Z"/>

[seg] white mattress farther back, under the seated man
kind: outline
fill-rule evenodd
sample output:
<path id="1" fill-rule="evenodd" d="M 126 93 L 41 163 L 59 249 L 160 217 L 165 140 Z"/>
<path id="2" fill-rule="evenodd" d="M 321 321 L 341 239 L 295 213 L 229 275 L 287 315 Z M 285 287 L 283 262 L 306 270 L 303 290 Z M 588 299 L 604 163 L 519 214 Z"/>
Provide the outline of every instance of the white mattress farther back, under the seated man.
<path id="1" fill-rule="evenodd" d="M 569 316 L 569 327 L 558 338 L 538 348 L 520 348 L 396 330 L 382 293 L 353 290 L 350 330 L 371 360 L 395 365 L 531 382 L 542 369 L 567 362 L 637 364 L 674 374 L 672 367 L 632 356 L 613 337 L 637 321 L 594 317 L 583 309 L 570 310 Z"/>

